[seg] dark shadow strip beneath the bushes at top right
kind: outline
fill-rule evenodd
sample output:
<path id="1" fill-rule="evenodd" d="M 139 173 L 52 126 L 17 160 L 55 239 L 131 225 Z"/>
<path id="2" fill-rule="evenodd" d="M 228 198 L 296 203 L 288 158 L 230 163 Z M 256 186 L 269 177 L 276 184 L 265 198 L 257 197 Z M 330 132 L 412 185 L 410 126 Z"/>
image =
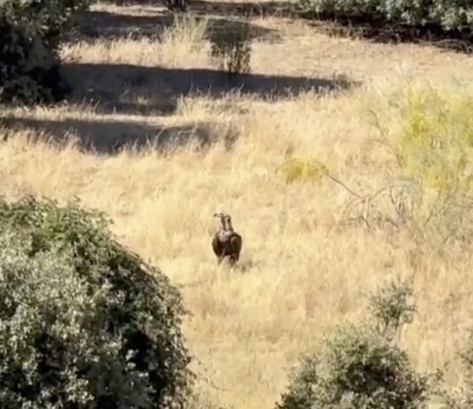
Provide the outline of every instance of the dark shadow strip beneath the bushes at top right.
<path id="1" fill-rule="evenodd" d="M 345 38 L 357 38 L 380 43 L 414 43 L 430 45 L 441 50 L 470 54 L 473 51 L 471 30 L 446 31 L 437 25 L 409 26 L 388 22 L 374 16 L 333 16 L 301 14 L 323 34 Z"/>

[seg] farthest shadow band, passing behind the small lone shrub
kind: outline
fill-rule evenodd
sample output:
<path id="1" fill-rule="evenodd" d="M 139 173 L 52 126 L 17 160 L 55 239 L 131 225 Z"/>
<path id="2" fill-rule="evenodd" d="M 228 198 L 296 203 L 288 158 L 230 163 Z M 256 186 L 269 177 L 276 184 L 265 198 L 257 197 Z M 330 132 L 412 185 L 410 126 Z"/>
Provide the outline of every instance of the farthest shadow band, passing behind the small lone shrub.
<path id="1" fill-rule="evenodd" d="M 180 13 L 189 16 L 190 13 Z M 74 40 L 93 40 L 97 38 L 140 39 L 143 37 L 159 40 L 163 31 L 174 24 L 177 14 L 166 9 L 153 10 L 152 15 L 118 14 L 113 12 L 83 12 L 78 15 L 73 35 Z M 267 27 L 255 26 L 248 21 L 231 19 L 230 16 L 205 15 L 207 21 L 206 36 L 224 32 L 249 32 L 252 40 L 277 42 L 280 35 L 276 30 Z M 195 15 L 197 20 L 204 19 Z"/>

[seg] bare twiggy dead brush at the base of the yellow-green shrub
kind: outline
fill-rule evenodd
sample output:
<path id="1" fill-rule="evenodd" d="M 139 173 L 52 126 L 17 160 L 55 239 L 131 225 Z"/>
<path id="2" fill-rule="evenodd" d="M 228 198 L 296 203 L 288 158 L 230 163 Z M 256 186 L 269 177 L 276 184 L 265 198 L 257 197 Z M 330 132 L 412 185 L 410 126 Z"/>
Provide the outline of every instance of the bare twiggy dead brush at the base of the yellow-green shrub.
<path id="1" fill-rule="evenodd" d="M 429 193 L 415 181 L 399 179 L 363 197 L 351 200 L 338 227 L 362 226 L 389 234 L 407 232 L 420 246 L 447 242 L 471 243 L 473 197 L 449 190 Z"/>

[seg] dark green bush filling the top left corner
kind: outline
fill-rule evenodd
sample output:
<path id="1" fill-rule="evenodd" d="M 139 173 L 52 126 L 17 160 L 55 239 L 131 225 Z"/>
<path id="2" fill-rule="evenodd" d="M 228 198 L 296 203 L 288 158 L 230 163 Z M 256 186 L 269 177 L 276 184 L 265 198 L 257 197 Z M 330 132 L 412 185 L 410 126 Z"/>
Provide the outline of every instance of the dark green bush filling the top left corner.
<path id="1" fill-rule="evenodd" d="M 0 102 L 58 101 L 68 91 L 58 46 L 75 12 L 91 0 L 0 2 Z"/>

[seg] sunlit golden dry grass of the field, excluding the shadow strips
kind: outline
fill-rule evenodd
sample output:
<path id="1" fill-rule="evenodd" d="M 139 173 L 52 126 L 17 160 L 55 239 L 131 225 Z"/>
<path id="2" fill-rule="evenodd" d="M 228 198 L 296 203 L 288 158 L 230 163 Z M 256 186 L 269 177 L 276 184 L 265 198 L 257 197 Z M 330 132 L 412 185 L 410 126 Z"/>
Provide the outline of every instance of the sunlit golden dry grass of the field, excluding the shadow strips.
<path id="1" fill-rule="evenodd" d="M 335 40 L 316 37 L 319 42 L 314 44 L 315 37 L 298 35 L 282 44 L 257 42 L 255 67 L 274 74 L 312 72 L 319 60 L 310 53 Z M 294 50 L 295 44 L 300 51 Z M 376 66 L 380 71 L 381 60 L 386 59 L 387 66 L 394 64 L 389 58 L 398 58 L 391 46 L 337 44 L 330 52 L 344 58 L 353 52 L 353 44 L 366 47 L 360 51 L 363 55 L 381 52 Z M 78 42 L 63 54 L 85 63 L 189 68 L 208 64 L 206 46 L 204 20 L 188 19 L 176 20 L 160 39 Z M 411 52 L 407 49 L 403 56 Z M 415 58 L 430 61 L 432 52 L 415 50 Z M 301 56 L 313 57 L 302 66 Z M 340 61 L 360 68 L 360 57 L 352 58 Z M 368 57 L 363 61 L 364 68 L 375 70 Z M 440 71 L 461 66 L 447 59 L 444 64 Z M 386 89 L 398 81 L 391 77 L 387 85 L 383 82 Z M 123 87 L 121 79 L 107 80 L 117 89 Z M 149 81 L 143 88 L 152 89 Z M 329 169 L 353 191 L 367 193 L 399 174 L 392 150 L 376 143 L 379 129 L 372 126 L 368 112 L 385 109 L 382 125 L 392 132 L 388 136 L 400 135 L 396 132 L 401 117 L 390 105 L 391 95 L 385 89 L 376 94 L 368 84 L 343 94 L 311 91 L 269 102 L 238 93 L 221 99 L 180 96 L 176 111 L 167 117 L 103 114 L 87 104 L 4 112 L 44 122 L 89 122 L 89 132 L 111 140 L 120 124 L 165 129 L 205 124 L 212 143 L 205 150 L 190 143 L 172 155 L 148 149 L 98 156 L 73 142 L 47 143 L 46 131 L 18 130 L 0 143 L 0 192 L 62 201 L 80 197 L 84 205 L 107 212 L 120 241 L 181 286 L 192 312 L 184 323 L 185 334 L 200 362 L 195 369 L 205 399 L 236 409 L 270 408 L 299 353 L 311 349 L 328 328 L 361 316 L 366 289 L 393 274 L 413 274 L 416 247 L 408 236 L 396 241 L 363 228 L 338 228 L 353 195 L 322 177 Z M 143 97 L 143 104 L 146 101 Z M 466 118 L 460 102 L 458 112 Z M 452 103 L 452 110 L 455 107 Z M 101 121 L 118 125 L 103 131 Z M 461 135 L 459 129 L 455 132 Z M 69 134 L 78 136 L 74 127 Z M 228 135 L 234 135 L 231 146 L 225 142 Z M 293 182 L 287 183 L 275 171 L 291 158 L 316 158 L 326 167 L 315 166 L 312 172 L 298 162 L 290 166 Z M 302 183 L 300 177 L 316 182 Z M 212 215 L 221 210 L 232 215 L 236 231 L 243 235 L 240 269 L 234 273 L 216 265 L 210 245 L 216 228 Z M 462 373 L 455 357 L 471 324 L 473 278 L 469 255 L 458 257 L 451 250 L 442 257 L 417 254 L 419 313 L 401 341 L 416 367 L 434 369 L 451 362 L 447 381 L 458 385 Z"/>

